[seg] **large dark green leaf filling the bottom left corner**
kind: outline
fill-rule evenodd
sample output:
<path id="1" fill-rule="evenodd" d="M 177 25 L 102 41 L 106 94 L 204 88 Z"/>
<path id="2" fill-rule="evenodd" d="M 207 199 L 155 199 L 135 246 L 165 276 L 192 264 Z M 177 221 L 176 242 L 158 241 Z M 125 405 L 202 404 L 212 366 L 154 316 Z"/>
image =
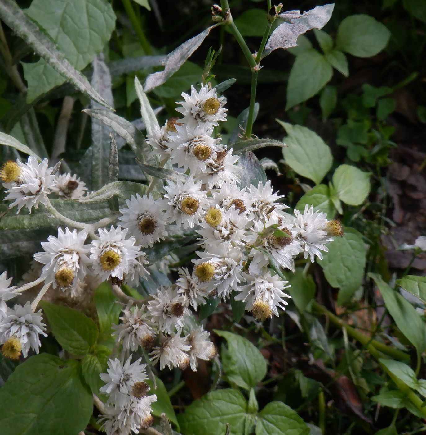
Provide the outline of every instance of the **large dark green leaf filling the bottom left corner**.
<path id="1" fill-rule="evenodd" d="M 2 435 L 76 435 L 93 412 L 79 363 L 45 353 L 16 368 L 0 388 L 0 403 Z"/>

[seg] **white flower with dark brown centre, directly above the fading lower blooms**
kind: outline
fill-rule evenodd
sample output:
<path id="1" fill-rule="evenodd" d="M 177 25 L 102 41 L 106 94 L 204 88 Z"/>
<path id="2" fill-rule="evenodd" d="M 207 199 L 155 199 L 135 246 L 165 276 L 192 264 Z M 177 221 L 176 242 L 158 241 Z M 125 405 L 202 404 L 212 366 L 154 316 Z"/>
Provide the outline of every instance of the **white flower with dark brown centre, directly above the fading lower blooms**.
<path id="1" fill-rule="evenodd" d="M 148 302 L 152 322 L 167 334 L 176 328 L 182 328 L 184 318 L 191 314 L 184 305 L 184 300 L 177 290 L 161 288 Z"/>

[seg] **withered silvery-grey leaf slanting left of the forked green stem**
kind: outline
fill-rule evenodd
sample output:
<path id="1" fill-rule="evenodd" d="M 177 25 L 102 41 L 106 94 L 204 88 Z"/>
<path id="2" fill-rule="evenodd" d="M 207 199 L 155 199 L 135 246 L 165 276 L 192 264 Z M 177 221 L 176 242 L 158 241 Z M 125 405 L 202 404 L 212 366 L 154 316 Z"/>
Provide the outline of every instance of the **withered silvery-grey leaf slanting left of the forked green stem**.
<path id="1" fill-rule="evenodd" d="M 146 77 L 145 84 L 143 85 L 145 92 L 152 91 L 163 84 L 168 77 L 172 76 L 172 74 L 174 74 L 184 64 L 185 60 L 187 60 L 188 57 L 197 50 L 210 33 L 210 30 L 216 26 L 218 26 L 218 24 L 208 27 L 203 32 L 188 39 L 183 44 L 179 45 L 178 48 L 169 53 L 162 60 L 162 64 L 165 67 L 164 70 L 149 74 L 149 76 Z"/>

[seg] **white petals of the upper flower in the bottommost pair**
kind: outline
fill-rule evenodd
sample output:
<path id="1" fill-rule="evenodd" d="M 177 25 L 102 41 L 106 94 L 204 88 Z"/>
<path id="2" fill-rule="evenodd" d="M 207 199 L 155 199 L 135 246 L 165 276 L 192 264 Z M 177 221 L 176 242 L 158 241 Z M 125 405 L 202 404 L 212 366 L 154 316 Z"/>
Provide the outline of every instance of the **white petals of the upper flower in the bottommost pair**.
<path id="1" fill-rule="evenodd" d="M 99 391 L 109 396 L 108 402 L 112 402 L 117 408 L 123 409 L 128 405 L 134 396 L 134 386 L 138 382 L 145 382 L 147 379 L 145 368 L 146 364 L 141 364 L 142 358 L 131 363 L 132 355 L 122 364 L 118 359 L 108 360 L 107 373 L 99 376 L 105 385 Z"/>

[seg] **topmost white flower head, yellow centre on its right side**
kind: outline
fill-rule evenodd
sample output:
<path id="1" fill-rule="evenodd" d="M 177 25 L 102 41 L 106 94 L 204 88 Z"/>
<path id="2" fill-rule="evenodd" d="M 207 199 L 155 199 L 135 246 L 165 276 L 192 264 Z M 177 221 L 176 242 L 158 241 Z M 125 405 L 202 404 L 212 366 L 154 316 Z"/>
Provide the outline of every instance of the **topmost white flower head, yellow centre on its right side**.
<path id="1" fill-rule="evenodd" d="M 191 95 L 182 92 L 185 101 L 177 102 L 182 107 L 176 109 L 183 115 L 179 121 L 187 124 L 189 128 L 195 128 L 197 125 L 208 124 L 219 125 L 218 121 L 226 121 L 226 111 L 223 106 L 226 104 L 225 97 L 218 97 L 215 88 L 208 89 L 208 85 L 202 86 L 197 92 L 195 87 L 191 86 Z"/>

